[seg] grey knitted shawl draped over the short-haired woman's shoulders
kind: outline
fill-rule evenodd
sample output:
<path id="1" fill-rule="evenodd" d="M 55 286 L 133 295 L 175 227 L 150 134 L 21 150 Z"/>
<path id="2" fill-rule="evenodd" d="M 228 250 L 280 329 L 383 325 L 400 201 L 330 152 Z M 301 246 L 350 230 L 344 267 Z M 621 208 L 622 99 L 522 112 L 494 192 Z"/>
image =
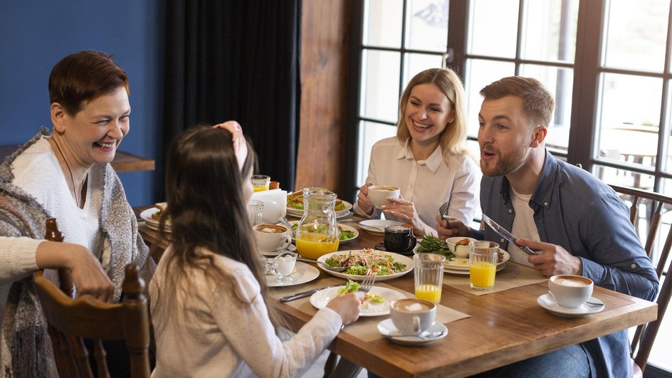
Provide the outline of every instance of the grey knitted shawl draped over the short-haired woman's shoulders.
<path id="1" fill-rule="evenodd" d="M 46 209 L 30 194 L 11 182 L 14 173 L 11 163 L 26 148 L 51 135 L 42 128 L 40 133 L 19 147 L 0 165 L 0 236 L 28 236 L 42 239 L 45 222 L 50 218 Z M 89 172 L 93 182 L 103 182 L 103 207 L 100 227 L 103 231 L 103 251 L 100 261 L 105 273 L 115 284 L 114 300 L 121 295 L 127 263 L 136 263 L 147 285 L 156 264 L 148 258 L 148 249 L 137 231 L 137 221 L 121 181 L 110 164 L 95 164 Z M 103 177 L 101 180 L 95 180 Z M 56 183 L 54 183 L 56 184 Z M 65 220 L 56 220 L 63 223 Z M 56 274 L 49 275 L 50 278 Z M 55 279 L 55 278 L 52 278 Z M 9 290 L 0 327 L 0 374 L 4 377 L 57 376 L 46 332 L 46 320 L 39 305 L 33 277 L 14 282 Z M 4 349 L 6 345 L 7 349 Z"/>

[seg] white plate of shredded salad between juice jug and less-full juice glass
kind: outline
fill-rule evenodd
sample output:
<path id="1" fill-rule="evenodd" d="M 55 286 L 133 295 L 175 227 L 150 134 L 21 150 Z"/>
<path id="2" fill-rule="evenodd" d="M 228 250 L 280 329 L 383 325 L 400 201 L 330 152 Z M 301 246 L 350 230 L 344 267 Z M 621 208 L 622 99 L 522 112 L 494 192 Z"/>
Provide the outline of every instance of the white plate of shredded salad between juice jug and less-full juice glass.
<path id="1" fill-rule="evenodd" d="M 378 266 L 377 281 L 391 280 L 413 270 L 413 259 L 399 253 L 365 248 L 336 251 L 317 258 L 317 267 L 331 275 L 350 280 L 363 280 L 367 268 Z"/>

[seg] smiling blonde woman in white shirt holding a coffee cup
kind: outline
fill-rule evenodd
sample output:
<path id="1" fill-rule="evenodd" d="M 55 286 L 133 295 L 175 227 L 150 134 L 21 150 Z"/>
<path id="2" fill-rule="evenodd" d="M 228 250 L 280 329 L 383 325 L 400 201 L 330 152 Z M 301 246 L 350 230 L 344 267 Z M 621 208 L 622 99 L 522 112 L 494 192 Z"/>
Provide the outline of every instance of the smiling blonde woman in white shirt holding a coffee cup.
<path id="1" fill-rule="evenodd" d="M 355 214 L 412 224 L 419 235 L 436 236 L 439 207 L 469 224 L 480 209 L 481 170 L 468 155 L 466 104 L 462 82 L 448 68 L 418 73 L 399 100 L 397 137 L 376 142 L 369 174 L 359 188 Z M 399 187 L 399 199 L 376 209 L 367 197 L 372 185 Z"/>

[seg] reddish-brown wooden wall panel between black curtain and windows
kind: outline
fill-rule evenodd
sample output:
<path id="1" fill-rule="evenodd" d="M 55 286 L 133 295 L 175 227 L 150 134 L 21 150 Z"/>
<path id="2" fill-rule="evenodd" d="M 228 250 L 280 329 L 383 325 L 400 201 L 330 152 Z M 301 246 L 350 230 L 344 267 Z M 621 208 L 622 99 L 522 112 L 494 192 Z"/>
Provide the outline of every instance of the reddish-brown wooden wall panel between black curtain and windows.
<path id="1" fill-rule="evenodd" d="M 348 0 L 303 0 L 301 104 L 295 189 L 344 191 L 346 146 Z"/>

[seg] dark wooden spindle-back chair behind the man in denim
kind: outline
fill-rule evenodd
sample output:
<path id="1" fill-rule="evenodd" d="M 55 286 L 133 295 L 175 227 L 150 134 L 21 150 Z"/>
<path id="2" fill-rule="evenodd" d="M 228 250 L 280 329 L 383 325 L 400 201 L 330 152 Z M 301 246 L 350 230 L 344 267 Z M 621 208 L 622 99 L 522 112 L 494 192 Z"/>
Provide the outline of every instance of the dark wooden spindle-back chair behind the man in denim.
<path id="1" fill-rule="evenodd" d="M 643 191 L 641 189 L 619 187 L 617 185 L 611 185 L 611 188 L 619 193 L 621 199 L 631 202 L 630 221 L 634 226 L 639 225 L 639 206 L 641 204 L 646 206 L 645 209 L 647 214 L 645 218 L 648 222 L 648 230 L 646 231 L 644 250 L 648 256 L 651 256 L 651 251 L 653 250 L 658 232 L 661 228 L 661 212 L 665 208 L 672 209 L 672 197 L 650 191 Z M 658 266 L 656 266 L 658 278 L 661 278 L 661 275 L 663 274 L 663 269 L 666 266 L 671 247 L 672 226 L 667 233 L 663 247 L 659 250 L 659 261 Z M 667 266 L 667 271 L 668 273 L 672 271 L 672 260 L 670 261 L 669 266 Z M 646 368 L 646 362 L 649 360 L 653 341 L 656 339 L 658 329 L 661 327 L 663 316 L 665 315 L 667 306 L 670 303 L 670 297 L 672 296 L 672 278 L 669 276 L 666 278 L 667 279 L 663 282 L 663 285 L 661 285 L 658 292 L 658 318 L 653 322 L 637 327 L 632 340 L 632 358 L 642 371 Z M 637 348 L 638 345 L 639 349 Z"/>

